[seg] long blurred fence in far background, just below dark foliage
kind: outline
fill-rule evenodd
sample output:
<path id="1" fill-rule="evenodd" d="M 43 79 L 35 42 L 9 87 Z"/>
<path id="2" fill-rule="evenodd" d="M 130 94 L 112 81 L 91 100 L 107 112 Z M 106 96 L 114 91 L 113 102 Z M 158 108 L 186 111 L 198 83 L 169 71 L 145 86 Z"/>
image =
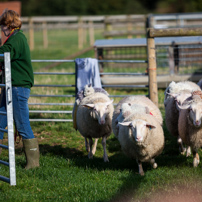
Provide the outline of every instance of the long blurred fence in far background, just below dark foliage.
<path id="1" fill-rule="evenodd" d="M 77 30 L 79 49 L 92 46 L 101 38 L 141 38 L 146 36 L 146 28 L 200 27 L 202 13 L 165 14 L 165 15 L 110 15 L 110 16 L 54 16 L 22 17 L 22 30 L 27 32 L 30 48 L 48 48 L 58 43 L 56 37 L 61 32 Z M 53 32 L 54 30 L 54 32 Z M 40 42 L 35 35 L 40 33 Z M 56 34 L 59 33 L 59 34 Z M 67 44 L 71 39 L 67 39 Z M 70 43 L 71 44 L 71 43 Z"/>

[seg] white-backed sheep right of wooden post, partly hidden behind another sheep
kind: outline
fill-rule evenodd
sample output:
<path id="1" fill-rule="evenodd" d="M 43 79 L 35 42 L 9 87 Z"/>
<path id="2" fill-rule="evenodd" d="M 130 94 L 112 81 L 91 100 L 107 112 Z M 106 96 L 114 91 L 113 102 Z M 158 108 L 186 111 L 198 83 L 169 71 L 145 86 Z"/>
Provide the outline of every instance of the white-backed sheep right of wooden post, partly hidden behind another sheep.
<path id="1" fill-rule="evenodd" d="M 180 151 L 184 153 L 186 149 L 183 146 L 182 140 L 178 132 L 179 105 L 191 97 L 193 91 L 200 90 L 200 87 L 191 81 L 182 81 L 175 83 L 172 81 L 164 92 L 165 106 L 165 123 L 168 131 L 173 136 L 177 137 Z M 187 156 L 190 155 L 190 149 L 187 150 Z"/>

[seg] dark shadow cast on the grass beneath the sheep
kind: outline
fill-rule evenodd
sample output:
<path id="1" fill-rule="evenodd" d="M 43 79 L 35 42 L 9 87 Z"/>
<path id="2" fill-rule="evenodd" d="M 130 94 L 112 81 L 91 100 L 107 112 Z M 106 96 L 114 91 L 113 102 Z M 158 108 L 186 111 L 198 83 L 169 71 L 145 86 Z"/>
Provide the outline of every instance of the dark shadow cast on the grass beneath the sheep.
<path id="1" fill-rule="evenodd" d="M 166 129 L 165 129 L 166 130 Z M 85 146 L 83 145 L 83 148 Z M 103 152 L 101 146 L 99 146 Z M 138 174 L 138 166 L 135 160 L 131 160 L 126 157 L 121 151 L 120 144 L 115 137 L 110 137 L 107 140 L 107 150 L 109 154 L 109 163 L 104 163 L 103 158 L 99 153 L 99 157 L 95 154 L 93 159 L 88 159 L 87 152 L 80 148 L 71 148 L 64 145 L 49 145 L 40 144 L 41 155 L 58 156 L 64 159 L 71 159 L 79 168 L 86 169 L 86 167 L 91 169 L 96 169 L 98 171 L 103 170 L 119 170 L 128 171 L 125 177 L 121 178 L 121 187 L 118 189 L 117 193 L 112 195 L 109 200 L 100 200 L 99 202 L 129 202 L 135 196 L 135 192 L 138 191 L 140 185 L 144 183 L 144 176 Z M 17 149 L 17 154 L 22 152 L 22 149 Z M 187 165 L 187 158 L 179 154 L 178 145 L 175 137 L 165 135 L 165 148 L 163 153 L 156 158 L 158 167 L 173 167 Z M 20 161 L 20 165 L 24 166 L 24 161 Z M 191 166 L 191 164 L 190 164 Z M 143 169 L 145 174 L 152 170 L 149 163 L 143 163 Z M 158 168 L 157 168 L 158 169 Z M 155 174 L 155 173 L 154 173 Z"/>

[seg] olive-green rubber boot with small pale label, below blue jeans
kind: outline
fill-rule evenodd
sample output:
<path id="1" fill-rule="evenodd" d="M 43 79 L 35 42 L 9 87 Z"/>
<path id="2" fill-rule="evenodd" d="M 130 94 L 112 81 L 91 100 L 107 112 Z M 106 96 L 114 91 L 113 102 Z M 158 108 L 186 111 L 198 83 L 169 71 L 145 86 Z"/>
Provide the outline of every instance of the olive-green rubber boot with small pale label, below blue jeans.
<path id="1" fill-rule="evenodd" d="M 39 144 L 37 139 L 23 139 L 22 141 L 27 161 L 25 169 L 39 167 Z"/>

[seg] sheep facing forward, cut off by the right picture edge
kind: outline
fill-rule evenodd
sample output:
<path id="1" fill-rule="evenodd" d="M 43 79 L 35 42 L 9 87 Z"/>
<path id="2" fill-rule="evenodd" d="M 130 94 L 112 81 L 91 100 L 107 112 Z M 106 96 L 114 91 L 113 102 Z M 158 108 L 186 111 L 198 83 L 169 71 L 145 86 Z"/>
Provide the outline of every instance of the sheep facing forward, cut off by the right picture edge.
<path id="1" fill-rule="evenodd" d="M 202 99 L 199 95 L 193 94 L 189 104 L 179 107 L 179 136 L 192 148 L 193 166 L 197 167 L 200 161 L 198 149 L 202 147 Z"/>

